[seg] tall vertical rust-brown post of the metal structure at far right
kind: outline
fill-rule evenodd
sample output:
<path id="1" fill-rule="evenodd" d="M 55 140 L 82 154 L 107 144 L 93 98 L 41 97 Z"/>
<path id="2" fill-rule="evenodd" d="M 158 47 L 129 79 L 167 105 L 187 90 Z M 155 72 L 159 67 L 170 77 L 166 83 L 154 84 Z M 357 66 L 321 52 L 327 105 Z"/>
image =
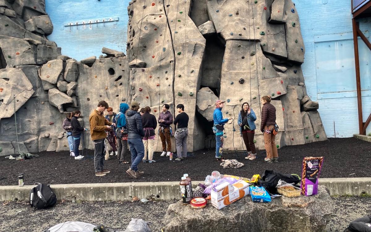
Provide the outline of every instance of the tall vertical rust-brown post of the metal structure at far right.
<path id="1" fill-rule="evenodd" d="M 358 102 L 358 125 L 359 134 L 365 134 L 363 132 L 363 118 L 362 118 L 362 95 L 361 95 L 361 75 L 359 72 L 359 54 L 358 54 L 358 34 L 357 34 L 357 22 L 352 19 L 353 24 L 353 43 L 354 43 L 354 61 L 355 61 L 355 78 L 357 82 L 357 102 Z"/>

